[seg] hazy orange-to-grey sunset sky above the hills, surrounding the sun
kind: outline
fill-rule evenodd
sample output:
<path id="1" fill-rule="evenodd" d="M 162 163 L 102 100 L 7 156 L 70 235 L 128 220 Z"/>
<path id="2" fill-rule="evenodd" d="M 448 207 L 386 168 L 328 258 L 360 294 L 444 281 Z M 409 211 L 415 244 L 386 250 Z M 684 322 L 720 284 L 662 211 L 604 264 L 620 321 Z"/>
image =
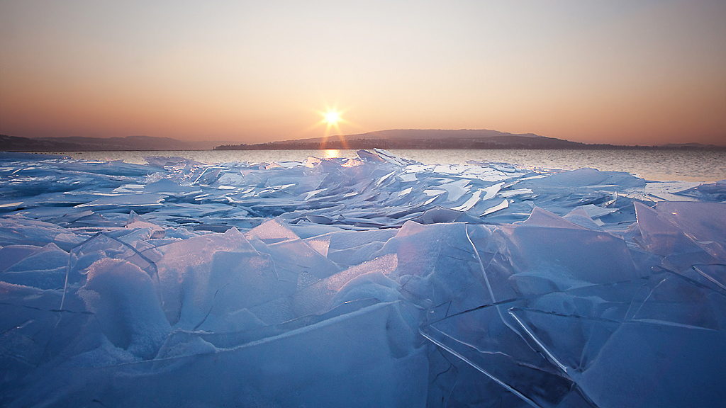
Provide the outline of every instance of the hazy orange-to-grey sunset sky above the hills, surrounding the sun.
<path id="1" fill-rule="evenodd" d="M 726 1 L 0 0 L 0 134 L 269 142 L 328 110 L 726 144 Z"/>

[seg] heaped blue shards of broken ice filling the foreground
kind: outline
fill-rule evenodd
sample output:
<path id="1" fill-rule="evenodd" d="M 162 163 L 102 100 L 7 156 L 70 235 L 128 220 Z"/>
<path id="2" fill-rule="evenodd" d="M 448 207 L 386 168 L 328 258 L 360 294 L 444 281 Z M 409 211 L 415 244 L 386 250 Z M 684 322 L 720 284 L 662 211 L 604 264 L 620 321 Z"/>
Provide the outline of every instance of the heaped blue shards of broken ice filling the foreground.
<path id="1" fill-rule="evenodd" d="M 722 407 L 726 181 L 0 152 L 2 407 Z"/>

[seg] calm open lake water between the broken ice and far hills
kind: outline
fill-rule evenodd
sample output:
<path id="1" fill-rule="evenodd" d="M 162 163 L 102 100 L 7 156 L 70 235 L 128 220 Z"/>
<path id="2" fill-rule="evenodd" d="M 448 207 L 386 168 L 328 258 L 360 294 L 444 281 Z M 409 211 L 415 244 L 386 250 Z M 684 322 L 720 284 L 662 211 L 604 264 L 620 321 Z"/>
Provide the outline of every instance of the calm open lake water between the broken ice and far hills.
<path id="1" fill-rule="evenodd" d="M 726 179 L 726 151 L 697 150 L 391 150 L 424 164 L 464 164 L 468 160 L 514 163 L 531 168 L 627 171 L 648 180 Z M 181 156 L 203 163 L 301 161 L 308 156 L 356 157 L 355 150 L 189 150 L 156 152 L 60 152 L 83 160 L 123 160 L 144 164 L 144 156 Z"/>

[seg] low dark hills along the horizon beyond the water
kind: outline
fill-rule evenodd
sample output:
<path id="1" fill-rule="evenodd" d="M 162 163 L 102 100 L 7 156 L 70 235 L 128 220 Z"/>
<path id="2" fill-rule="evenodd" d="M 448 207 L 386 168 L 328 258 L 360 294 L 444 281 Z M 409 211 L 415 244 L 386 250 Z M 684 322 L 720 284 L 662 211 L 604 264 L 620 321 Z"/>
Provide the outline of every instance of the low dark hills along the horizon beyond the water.
<path id="1" fill-rule="evenodd" d="M 391 130 L 327 139 L 298 139 L 258 144 L 185 142 L 168 137 L 44 137 L 31 139 L 0 134 L 0 151 L 6 152 L 158 152 L 207 150 L 726 150 L 714 144 L 663 144 L 625 146 L 587 144 L 535 134 L 505 134 L 488 130 Z"/>

